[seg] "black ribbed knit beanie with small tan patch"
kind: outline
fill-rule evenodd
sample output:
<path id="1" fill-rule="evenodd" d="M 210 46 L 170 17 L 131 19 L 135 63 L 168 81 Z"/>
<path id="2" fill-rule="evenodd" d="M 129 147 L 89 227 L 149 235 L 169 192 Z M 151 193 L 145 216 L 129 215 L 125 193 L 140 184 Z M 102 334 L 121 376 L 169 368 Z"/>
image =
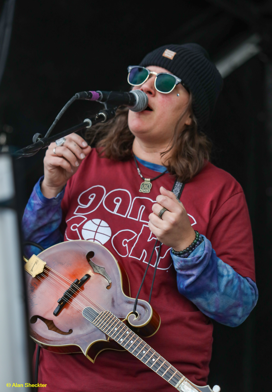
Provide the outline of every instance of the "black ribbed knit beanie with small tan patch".
<path id="1" fill-rule="evenodd" d="M 148 53 L 139 65 L 157 65 L 178 76 L 191 91 L 194 114 L 200 128 L 204 127 L 213 113 L 223 79 L 202 46 L 164 45 Z"/>

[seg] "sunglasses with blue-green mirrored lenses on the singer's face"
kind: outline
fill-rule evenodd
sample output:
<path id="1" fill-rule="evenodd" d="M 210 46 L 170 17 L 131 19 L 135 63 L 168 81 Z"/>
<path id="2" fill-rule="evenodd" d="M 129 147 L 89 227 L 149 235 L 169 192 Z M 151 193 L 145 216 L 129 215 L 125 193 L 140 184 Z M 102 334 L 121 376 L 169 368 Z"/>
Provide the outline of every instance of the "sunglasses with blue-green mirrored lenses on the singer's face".
<path id="1" fill-rule="evenodd" d="M 181 83 L 189 93 L 188 87 L 184 85 L 182 80 L 168 72 L 157 73 L 150 71 L 145 67 L 140 67 L 139 65 L 130 65 L 128 67 L 128 83 L 130 83 L 131 86 L 141 86 L 141 84 L 148 80 L 150 75 L 156 76 L 154 86 L 159 93 L 171 93 L 178 83 Z"/>

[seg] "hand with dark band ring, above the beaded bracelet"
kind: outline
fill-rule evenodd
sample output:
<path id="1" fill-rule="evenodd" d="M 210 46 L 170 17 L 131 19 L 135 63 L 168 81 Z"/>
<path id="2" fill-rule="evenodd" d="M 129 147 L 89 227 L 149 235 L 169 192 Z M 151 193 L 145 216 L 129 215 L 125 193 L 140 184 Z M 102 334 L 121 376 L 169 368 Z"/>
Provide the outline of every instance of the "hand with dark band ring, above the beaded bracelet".
<path id="1" fill-rule="evenodd" d="M 149 216 L 148 226 L 163 244 L 177 251 L 186 249 L 195 240 L 195 230 L 186 209 L 173 192 L 160 187 L 160 193 L 156 198 L 157 203 L 152 206 L 153 212 Z M 160 219 L 158 213 L 163 207 L 168 211 L 165 211 Z"/>

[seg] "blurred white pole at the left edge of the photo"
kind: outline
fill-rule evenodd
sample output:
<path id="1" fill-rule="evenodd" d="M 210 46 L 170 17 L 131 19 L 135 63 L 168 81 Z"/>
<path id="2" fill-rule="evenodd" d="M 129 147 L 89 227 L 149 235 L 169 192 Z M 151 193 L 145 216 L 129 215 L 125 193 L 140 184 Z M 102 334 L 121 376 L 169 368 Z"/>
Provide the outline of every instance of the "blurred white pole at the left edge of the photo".
<path id="1" fill-rule="evenodd" d="M 19 385 L 29 390 L 25 383 L 31 382 L 17 214 L 3 207 L 14 193 L 11 157 L 0 154 L 1 391 Z"/>

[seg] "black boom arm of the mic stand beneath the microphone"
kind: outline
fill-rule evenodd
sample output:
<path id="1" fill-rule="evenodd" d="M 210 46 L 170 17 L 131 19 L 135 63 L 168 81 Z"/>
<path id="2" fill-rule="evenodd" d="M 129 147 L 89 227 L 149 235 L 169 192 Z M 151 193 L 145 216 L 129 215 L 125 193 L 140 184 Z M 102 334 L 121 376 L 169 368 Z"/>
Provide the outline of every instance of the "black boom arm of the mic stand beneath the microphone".
<path id="1" fill-rule="evenodd" d="M 79 131 L 83 128 L 90 128 L 92 125 L 97 124 L 99 122 L 106 122 L 115 116 L 116 107 L 111 109 L 104 109 L 100 111 L 95 117 L 89 119 L 86 118 L 83 123 L 75 125 L 72 128 L 66 129 L 66 131 L 60 132 L 54 136 L 50 136 L 49 138 L 42 138 L 41 134 L 36 133 L 33 136 L 33 144 L 24 147 L 21 150 L 14 152 L 14 156 L 22 158 L 23 156 L 32 156 L 36 154 L 40 149 L 46 148 L 50 145 L 50 143 L 55 142 L 56 140 L 63 138 L 64 136 L 69 135 L 70 133 Z"/>

